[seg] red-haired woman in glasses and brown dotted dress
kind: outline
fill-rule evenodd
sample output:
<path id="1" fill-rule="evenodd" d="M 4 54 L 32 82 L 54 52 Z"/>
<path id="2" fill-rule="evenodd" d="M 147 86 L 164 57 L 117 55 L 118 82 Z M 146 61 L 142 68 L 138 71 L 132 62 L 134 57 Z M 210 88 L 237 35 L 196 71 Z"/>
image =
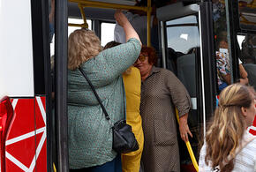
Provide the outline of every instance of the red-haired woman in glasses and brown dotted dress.
<path id="1" fill-rule="evenodd" d="M 181 138 L 187 141 L 188 134 L 192 136 L 187 125 L 190 96 L 171 71 L 154 67 L 156 60 L 155 50 L 143 46 L 134 64 L 142 79 L 142 162 L 147 172 L 180 171 L 175 107 L 180 118 Z"/>

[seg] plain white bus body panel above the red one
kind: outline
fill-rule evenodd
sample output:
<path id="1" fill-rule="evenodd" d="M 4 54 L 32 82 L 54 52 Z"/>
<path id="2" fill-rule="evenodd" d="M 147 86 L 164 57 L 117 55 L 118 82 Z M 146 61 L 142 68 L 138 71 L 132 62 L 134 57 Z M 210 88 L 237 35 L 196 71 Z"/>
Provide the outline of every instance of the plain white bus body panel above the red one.
<path id="1" fill-rule="evenodd" d="M 4 95 L 32 97 L 34 71 L 30 0 L 1 0 L 0 22 L 0 98 Z"/>

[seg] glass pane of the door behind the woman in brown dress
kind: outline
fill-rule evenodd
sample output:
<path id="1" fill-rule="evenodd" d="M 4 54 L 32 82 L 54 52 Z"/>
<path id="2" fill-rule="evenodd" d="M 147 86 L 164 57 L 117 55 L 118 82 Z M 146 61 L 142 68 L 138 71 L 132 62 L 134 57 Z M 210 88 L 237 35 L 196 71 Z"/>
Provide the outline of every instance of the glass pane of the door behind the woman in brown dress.
<path id="1" fill-rule="evenodd" d="M 196 109 L 196 58 L 200 56 L 200 34 L 196 16 L 167 21 L 167 68 L 177 74 L 192 97 Z M 172 25 L 174 24 L 174 25 Z M 178 25 L 177 25 L 178 24 Z"/>

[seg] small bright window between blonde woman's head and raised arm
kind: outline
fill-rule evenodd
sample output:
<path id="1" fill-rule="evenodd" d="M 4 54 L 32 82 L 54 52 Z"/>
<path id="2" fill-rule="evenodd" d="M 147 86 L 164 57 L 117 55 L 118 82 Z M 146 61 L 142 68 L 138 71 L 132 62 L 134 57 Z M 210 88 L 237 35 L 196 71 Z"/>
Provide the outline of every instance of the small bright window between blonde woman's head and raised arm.
<path id="1" fill-rule="evenodd" d="M 102 22 L 101 26 L 101 42 L 104 47 L 109 41 L 114 41 L 115 23 Z"/>

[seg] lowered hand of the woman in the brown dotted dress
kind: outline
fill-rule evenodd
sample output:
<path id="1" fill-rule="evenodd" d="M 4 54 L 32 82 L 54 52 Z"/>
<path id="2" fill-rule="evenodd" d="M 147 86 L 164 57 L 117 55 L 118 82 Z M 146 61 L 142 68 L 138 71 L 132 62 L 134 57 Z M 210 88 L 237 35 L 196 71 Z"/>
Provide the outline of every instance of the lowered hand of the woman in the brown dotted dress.
<path id="1" fill-rule="evenodd" d="M 192 133 L 189 130 L 189 127 L 187 124 L 187 114 L 179 118 L 179 132 L 180 132 L 180 137 L 184 140 L 184 142 L 189 141 L 188 134 L 192 137 Z"/>

